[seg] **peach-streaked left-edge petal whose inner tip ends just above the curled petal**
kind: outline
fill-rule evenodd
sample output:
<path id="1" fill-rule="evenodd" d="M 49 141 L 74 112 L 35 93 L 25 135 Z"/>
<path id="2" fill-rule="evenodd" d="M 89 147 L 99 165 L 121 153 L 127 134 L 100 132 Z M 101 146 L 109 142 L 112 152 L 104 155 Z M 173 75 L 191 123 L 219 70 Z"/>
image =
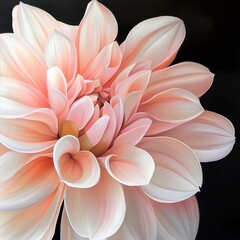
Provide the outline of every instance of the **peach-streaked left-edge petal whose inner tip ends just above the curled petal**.
<path id="1" fill-rule="evenodd" d="M 17 152 L 34 153 L 49 149 L 57 138 L 57 118 L 40 108 L 22 118 L 0 119 L 0 142 Z"/>

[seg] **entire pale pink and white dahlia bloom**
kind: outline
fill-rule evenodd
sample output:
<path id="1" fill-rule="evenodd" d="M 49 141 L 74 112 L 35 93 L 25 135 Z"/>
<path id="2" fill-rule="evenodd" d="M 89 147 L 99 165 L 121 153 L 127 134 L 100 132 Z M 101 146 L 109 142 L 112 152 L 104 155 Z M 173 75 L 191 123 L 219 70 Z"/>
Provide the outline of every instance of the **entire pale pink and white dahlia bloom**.
<path id="1" fill-rule="evenodd" d="M 169 66 L 183 22 L 156 17 L 116 42 L 88 4 L 79 26 L 20 3 L 0 35 L 0 239 L 195 239 L 200 162 L 226 156 L 234 128 L 205 111 L 204 66 Z"/>

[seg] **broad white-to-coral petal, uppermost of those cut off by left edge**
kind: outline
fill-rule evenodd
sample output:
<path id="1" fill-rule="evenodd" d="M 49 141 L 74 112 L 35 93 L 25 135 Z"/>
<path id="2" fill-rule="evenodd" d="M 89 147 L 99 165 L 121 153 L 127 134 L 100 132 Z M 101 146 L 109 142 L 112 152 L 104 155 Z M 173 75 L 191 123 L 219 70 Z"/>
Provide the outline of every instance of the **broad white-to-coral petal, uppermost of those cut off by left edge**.
<path id="1" fill-rule="evenodd" d="M 27 83 L 47 96 L 47 66 L 44 59 L 14 34 L 1 34 L 0 45 L 0 76 Z"/>

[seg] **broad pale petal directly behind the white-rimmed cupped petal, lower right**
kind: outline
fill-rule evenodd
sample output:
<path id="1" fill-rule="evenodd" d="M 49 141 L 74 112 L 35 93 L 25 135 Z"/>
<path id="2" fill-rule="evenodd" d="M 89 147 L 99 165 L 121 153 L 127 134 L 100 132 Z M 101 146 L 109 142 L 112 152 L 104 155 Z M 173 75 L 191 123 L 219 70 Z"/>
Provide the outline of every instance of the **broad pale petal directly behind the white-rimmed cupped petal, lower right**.
<path id="1" fill-rule="evenodd" d="M 199 191 L 201 165 L 187 145 L 173 138 L 156 137 L 145 138 L 138 146 L 149 152 L 155 162 L 150 184 L 142 187 L 150 198 L 177 202 Z"/>

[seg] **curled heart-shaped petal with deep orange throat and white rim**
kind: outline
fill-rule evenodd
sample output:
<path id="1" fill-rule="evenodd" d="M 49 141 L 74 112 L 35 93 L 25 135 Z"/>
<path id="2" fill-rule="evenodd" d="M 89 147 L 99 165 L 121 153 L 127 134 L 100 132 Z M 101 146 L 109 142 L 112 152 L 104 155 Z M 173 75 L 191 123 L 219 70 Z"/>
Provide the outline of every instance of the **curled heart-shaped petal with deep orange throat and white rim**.
<path id="1" fill-rule="evenodd" d="M 100 177 L 95 156 L 80 151 L 77 138 L 67 135 L 58 140 L 53 149 L 53 161 L 61 182 L 68 186 L 87 188 L 94 186 Z"/>

